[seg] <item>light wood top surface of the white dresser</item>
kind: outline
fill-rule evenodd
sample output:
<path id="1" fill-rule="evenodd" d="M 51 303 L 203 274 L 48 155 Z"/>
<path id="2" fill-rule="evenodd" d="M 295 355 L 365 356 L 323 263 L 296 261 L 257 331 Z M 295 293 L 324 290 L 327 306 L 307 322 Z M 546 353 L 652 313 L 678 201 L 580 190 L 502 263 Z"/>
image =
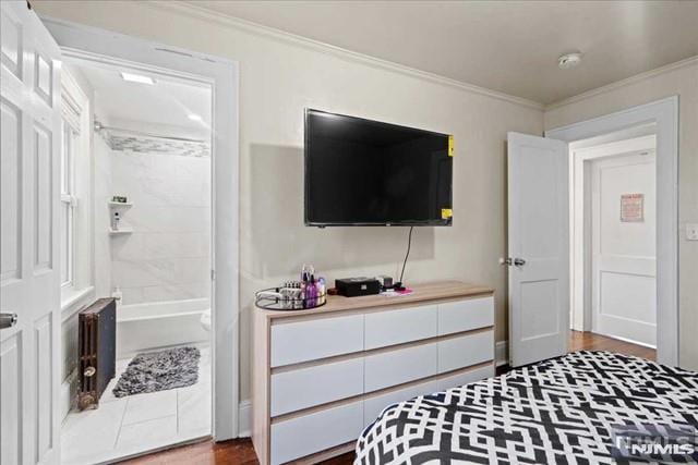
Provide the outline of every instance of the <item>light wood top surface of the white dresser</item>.
<path id="1" fill-rule="evenodd" d="M 428 301 L 441 301 L 447 298 L 473 297 L 492 295 L 494 290 L 481 285 L 466 284 L 460 281 L 436 281 L 430 283 L 414 284 L 410 295 L 399 297 L 386 297 L 384 295 L 364 295 L 362 297 L 345 297 L 341 295 L 328 295 L 327 303 L 318 308 L 309 310 L 265 310 L 255 308 L 269 319 L 290 318 L 303 316 L 318 316 L 334 311 L 356 310 L 361 308 L 405 306 Z"/>

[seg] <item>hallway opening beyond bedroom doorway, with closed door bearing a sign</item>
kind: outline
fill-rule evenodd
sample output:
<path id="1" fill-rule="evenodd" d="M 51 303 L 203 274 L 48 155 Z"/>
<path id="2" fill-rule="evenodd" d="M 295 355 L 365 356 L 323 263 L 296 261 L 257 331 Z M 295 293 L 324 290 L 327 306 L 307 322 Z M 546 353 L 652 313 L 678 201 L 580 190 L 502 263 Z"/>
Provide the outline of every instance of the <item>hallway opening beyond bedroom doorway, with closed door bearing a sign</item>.
<path id="1" fill-rule="evenodd" d="M 654 126 L 571 144 L 576 331 L 657 346 Z M 614 139 L 613 142 L 609 142 Z"/>

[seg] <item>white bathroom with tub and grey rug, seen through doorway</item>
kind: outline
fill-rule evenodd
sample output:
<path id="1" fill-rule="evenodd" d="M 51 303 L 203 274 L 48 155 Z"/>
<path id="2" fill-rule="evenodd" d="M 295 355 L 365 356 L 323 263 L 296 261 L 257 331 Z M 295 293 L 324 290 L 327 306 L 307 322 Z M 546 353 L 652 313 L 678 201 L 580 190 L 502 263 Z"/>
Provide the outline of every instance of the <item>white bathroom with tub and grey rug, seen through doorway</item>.
<path id="1" fill-rule="evenodd" d="M 111 462 L 212 433 L 212 91 L 76 57 L 62 71 L 62 462 Z M 82 409 L 79 314 L 101 297 L 116 374 Z"/>

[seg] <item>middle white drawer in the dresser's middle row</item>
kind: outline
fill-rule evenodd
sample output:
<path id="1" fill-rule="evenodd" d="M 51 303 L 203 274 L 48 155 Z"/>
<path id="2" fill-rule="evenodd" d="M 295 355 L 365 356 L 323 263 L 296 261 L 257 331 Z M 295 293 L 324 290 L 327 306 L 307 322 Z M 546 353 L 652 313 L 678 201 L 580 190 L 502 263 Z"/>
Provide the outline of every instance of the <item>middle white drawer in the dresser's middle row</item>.
<path id="1" fill-rule="evenodd" d="M 434 374 L 435 342 L 369 355 L 364 359 L 364 390 L 372 392 Z"/>

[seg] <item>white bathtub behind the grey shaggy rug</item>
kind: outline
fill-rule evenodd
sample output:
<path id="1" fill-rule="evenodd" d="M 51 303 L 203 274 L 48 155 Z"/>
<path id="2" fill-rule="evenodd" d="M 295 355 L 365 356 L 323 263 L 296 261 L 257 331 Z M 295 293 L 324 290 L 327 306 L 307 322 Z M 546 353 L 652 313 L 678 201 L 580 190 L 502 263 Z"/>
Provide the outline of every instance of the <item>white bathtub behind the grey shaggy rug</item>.
<path id="1" fill-rule="evenodd" d="M 151 302 L 117 308 L 117 358 L 137 352 L 208 342 L 201 316 L 208 298 Z"/>

